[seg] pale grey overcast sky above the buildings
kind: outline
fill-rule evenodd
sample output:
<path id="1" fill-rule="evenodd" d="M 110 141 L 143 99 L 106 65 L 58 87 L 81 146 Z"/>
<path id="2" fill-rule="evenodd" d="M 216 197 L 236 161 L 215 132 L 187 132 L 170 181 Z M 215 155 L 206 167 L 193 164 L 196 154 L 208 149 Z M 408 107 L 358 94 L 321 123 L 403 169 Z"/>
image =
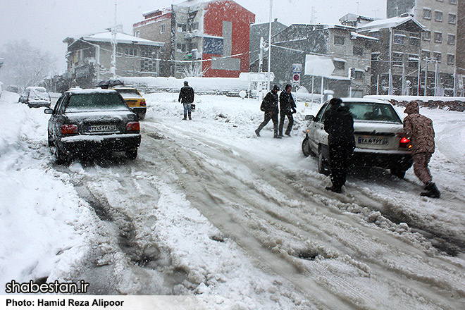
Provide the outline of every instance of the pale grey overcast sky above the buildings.
<path id="1" fill-rule="evenodd" d="M 66 68 L 66 37 L 101 32 L 116 20 L 126 33 L 143 20 L 142 13 L 179 4 L 180 0 L 1 0 L 0 45 L 27 40 L 42 51 L 51 51 Z M 256 15 L 256 23 L 268 22 L 269 0 L 235 0 Z M 281 23 L 310 23 L 314 6 L 317 23 L 338 23 L 346 13 L 384 18 L 386 0 L 273 0 L 273 18 Z M 1 58 L 1 55 L 0 55 Z"/>

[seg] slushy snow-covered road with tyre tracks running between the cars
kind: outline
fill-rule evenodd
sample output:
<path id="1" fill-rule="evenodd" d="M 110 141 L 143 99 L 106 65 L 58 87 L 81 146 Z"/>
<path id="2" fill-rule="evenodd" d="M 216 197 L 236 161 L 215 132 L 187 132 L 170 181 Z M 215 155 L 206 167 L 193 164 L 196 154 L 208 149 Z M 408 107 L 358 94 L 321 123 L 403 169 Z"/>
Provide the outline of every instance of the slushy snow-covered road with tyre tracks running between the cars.
<path id="1" fill-rule="evenodd" d="M 149 111 L 135 161 L 68 166 L 56 165 L 46 148 L 42 109 L 2 99 L 2 108 L 18 116 L 11 125 L 18 135 L 0 143 L 0 172 L 10 179 L 3 182 L 24 194 L 32 181 L 53 181 L 61 194 L 51 194 L 42 208 L 68 202 L 70 223 L 57 229 L 74 241 L 62 241 L 63 257 L 48 254 L 55 263 L 38 271 L 30 268 L 34 258 L 8 258 L 8 245 L 18 241 L 11 233 L 0 244 L 0 266 L 13 271 L 1 283 L 84 278 L 90 294 L 196 294 L 211 309 L 463 306 L 463 113 L 421 111 L 435 124 L 431 169 L 442 190 L 441 199 L 427 199 L 419 197 L 412 171 L 405 180 L 380 169 L 352 171 L 345 192 L 325 191 L 329 178 L 300 151 L 302 116 L 293 137 L 273 140 L 271 125 L 255 137 L 263 114 L 252 99 L 199 96 L 193 120 L 182 121 L 173 94 L 145 97 Z M 298 109 L 303 113 L 302 103 Z M 23 160 L 5 161 L 13 156 Z M 32 170 L 37 166 L 49 172 Z M 18 175 L 25 171 L 32 180 Z M 10 202 L 6 195 L 2 214 L 15 210 L 3 204 Z M 10 230 L 20 226 L 11 216 L 1 221 Z"/>

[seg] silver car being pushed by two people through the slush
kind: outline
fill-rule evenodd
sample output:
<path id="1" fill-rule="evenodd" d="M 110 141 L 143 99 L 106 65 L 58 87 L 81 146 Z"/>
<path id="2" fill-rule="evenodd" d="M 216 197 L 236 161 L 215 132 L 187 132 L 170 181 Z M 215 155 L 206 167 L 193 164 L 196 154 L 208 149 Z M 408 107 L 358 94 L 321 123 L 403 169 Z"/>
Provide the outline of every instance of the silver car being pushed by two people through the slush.
<path id="1" fill-rule="evenodd" d="M 354 116 L 354 136 L 356 149 L 352 156 L 355 166 L 376 166 L 390 169 L 392 175 L 404 178 L 413 161 L 409 151 L 410 140 L 397 137 L 402 132 L 402 120 L 394 107 L 385 101 L 361 98 L 342 98 L 343 104 Z M 329 174 L 328 133 L 324 130 L 326 101 L 316 116 L 306 116 L 310 120 L 302 141 L 305 156 L 318 156 L 318 172 Z"/>

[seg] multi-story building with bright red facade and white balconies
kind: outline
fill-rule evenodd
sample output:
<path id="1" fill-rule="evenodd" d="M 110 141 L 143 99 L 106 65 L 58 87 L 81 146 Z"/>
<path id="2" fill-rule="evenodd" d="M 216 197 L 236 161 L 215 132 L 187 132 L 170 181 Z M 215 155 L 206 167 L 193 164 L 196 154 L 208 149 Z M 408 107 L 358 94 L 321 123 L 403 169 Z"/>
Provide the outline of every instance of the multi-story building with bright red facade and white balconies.
<path id="1" fill-rule="evenodd" d="M 144 18 L 133 32 L 167 44 L 164 76 L 239 77 L 249 70 L 249 25 L 255 14 L 232 0 L 187 0 Z"/>

